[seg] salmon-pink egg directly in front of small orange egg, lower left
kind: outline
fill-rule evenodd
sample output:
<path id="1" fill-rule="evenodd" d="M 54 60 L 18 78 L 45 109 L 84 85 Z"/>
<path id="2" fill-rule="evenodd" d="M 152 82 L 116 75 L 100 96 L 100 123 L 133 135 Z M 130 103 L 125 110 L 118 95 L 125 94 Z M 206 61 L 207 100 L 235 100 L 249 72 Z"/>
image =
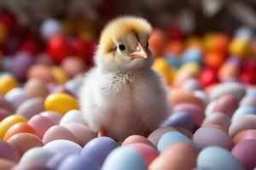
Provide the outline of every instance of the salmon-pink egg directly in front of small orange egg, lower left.
<path id="1" fill-rule="evenodd" d="M 7 142 L 13 145 L 20 155 L 23 155 L 26 150 L 44 145 L 42 140 L 32 133 L 17 133 L 10 137 Z"/>

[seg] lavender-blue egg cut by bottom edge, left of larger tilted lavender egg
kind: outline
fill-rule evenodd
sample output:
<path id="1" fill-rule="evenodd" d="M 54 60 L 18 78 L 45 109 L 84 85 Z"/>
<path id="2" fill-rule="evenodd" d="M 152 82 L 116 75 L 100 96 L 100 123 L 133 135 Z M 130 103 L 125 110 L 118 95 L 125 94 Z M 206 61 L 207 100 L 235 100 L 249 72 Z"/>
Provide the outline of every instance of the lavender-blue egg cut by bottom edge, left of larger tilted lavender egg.
<path id="1" fill-rule="evenodd" d="M 61 161 L 57 170 L 100 170 L 100 165 L 97 165 L 95 161 L 90 160 L 90 157 L 72 155 L 67 156 L 64 161 Z"/>

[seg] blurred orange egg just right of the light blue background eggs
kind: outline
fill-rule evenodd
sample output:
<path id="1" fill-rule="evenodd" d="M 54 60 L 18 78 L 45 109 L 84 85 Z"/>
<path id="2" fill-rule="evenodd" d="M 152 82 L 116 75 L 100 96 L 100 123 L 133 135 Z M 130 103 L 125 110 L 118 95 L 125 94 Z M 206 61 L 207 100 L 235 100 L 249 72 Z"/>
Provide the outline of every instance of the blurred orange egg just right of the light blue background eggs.
<path id="1" fill-rule="evenodd" d="M 224 63 L 225 56 L 217 51 L 209 52 L 204 57 L 205 65 L 211 68 L 218 68 Z"/>

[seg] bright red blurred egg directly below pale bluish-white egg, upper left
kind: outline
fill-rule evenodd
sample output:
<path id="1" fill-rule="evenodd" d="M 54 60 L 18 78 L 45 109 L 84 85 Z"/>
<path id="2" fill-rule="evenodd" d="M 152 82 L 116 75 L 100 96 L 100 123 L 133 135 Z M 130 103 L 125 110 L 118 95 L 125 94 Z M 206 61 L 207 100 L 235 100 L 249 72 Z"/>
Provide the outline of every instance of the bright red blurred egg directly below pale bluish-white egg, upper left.
<path id="1" fill-rule="evenodd" d="M 62 59 L 71 54 L 71 47 L 64 36 L 51 37 L 47 47 L 51 59 L 55 63 L 60 63 Z"/>

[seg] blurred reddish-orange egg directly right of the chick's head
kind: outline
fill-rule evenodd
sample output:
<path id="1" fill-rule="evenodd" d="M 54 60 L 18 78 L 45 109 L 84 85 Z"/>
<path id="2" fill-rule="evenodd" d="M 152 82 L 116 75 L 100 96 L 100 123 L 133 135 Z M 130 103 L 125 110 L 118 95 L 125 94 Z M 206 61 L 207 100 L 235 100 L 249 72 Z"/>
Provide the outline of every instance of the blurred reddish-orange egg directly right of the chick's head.
<path id="1" fill-rule="evenodd" d="M 164 31 L 161 31 L 160 29 L 154 29 L 152 31 L 148 43 L 149 49 L 155 57 L 158 57 L 163 53 L 163 50 L 166 47 L 166 42 L 167 37 Z"/>

